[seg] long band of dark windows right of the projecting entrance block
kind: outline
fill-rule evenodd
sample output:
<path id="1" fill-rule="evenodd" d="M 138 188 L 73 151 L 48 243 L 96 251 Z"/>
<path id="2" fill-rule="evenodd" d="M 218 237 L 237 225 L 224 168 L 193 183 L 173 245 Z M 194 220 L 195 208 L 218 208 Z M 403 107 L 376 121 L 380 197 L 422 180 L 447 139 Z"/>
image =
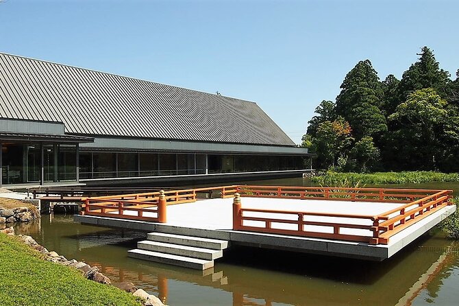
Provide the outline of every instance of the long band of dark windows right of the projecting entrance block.
<path id="1" fill-rule="evenodd" d="M 80 152 L 79 167 L 83 179 L 206 174 L 206 168 L 210 174 L 306 168 L 301 156 L 138 152 Z"/>

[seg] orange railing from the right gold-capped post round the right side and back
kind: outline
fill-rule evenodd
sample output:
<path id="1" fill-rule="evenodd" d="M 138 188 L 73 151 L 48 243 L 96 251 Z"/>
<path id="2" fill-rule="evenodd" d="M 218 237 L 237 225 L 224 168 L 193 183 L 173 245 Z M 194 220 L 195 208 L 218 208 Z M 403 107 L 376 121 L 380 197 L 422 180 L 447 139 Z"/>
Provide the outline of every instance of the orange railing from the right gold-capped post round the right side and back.
<path id="1" fill-rule="evenodd" d="M 379 215 L 365 215 L 245 209 L 241 207 L 238 197 L 234 200 L 234 230 L 343 239 L 369 244 L 388 244 L 389 237 L 451 204 L 449 199 L 452 194 L 451 190 L 338 187 L 238 186 L 237 190 L 242 196 L 248 197 L 406 203 Z M 342 233 L 343 228 L 364 230 L 364 233 Z"/>

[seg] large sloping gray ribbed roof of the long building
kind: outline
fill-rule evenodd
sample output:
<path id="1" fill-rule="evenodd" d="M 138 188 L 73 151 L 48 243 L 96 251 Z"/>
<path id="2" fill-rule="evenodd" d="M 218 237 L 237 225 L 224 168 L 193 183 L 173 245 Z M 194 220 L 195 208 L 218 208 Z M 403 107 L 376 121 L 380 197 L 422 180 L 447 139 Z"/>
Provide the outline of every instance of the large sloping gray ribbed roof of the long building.
<path id="1" fill-rule="evenodd" d="M 69 134 L 295 145 L 253 102 L 1 53 L 0 102 Z"/>

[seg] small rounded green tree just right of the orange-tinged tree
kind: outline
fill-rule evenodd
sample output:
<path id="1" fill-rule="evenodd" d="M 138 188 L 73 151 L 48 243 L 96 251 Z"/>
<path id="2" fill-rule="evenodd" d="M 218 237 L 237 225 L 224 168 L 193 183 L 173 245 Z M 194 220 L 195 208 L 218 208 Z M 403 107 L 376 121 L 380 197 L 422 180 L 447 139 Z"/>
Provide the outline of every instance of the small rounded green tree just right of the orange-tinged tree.
<path id="1" fill-rule="evenodd" d="M 363 137 L 349 152 L 353 171 L 369 172 L 380 163 L 380 149 L 375 147 L 372 137 Z"/>

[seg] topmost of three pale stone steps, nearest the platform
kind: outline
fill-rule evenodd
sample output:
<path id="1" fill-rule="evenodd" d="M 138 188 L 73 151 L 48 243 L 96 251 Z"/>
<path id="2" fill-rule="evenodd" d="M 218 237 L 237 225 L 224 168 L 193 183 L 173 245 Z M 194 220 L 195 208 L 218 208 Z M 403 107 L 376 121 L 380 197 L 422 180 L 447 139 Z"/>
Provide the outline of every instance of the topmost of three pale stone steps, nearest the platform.
<path id="1" fill-rule="evenodd" d="M 149 233 L 147 240 L 154 242 L 166 242 L 169 244 L 182 244 L 183 246 L 195 246 L 197 248 L 209 248 L 212 250 L 223 250 L 228 247 L 225 240 L 175 235 L 167 233 Z"/>

